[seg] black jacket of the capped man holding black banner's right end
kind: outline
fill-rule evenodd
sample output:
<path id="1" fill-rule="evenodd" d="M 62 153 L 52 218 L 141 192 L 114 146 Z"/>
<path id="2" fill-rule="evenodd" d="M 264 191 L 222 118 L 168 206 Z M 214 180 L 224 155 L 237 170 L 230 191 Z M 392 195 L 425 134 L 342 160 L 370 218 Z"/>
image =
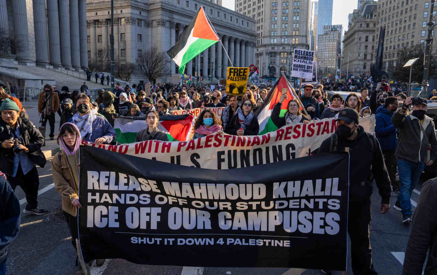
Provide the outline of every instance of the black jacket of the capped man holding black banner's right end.
<path id="1" fill-rule="evenodd" d="M 358 126 L 357 131 L 358 135 L 353 141 L 339 138 L 337 147 L 338 151 L 344 151 L 344 148 L 348 147 L 350 152 L 349 173 L 354 176 L 350 177 L 349 199 L 360 202 L 370 198 L 373 174 L 382 203 L 390 203 L 390 179 L 379 142 L 373 135 L 365 132 L 362 126 Z M 329 152 L 330 147 L 331 137 L 328 137 L 320 145 L 318 153 Z"/>

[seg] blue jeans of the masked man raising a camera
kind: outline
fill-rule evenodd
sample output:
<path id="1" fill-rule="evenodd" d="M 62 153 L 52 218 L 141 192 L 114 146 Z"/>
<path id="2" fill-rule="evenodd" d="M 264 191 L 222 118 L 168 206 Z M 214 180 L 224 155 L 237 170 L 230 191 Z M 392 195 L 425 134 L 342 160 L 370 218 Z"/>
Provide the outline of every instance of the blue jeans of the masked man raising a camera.
<path id="1" fill-rule="evenodd" d="M 411 193 L 419 182 L 420 174 L 425 168 L 425 163 L 410 162 L 404 158 L 398 158 L 399 170 L 399 196 L 398 202 L 402 208 L 402 215 L 409 215 L 411 211 Z"/>

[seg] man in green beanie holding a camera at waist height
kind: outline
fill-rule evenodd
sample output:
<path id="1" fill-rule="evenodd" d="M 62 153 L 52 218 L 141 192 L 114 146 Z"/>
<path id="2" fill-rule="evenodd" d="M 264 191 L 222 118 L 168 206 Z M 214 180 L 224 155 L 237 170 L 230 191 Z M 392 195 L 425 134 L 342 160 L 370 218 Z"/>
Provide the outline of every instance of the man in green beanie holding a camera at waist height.
<path id="1" fill-rule="evenodd" d="M 43 215 L 47 210 L 38 207 L 39 177 L 36 165 L 44 167 L 45 156 L 41 151 L 44 137 L 34 124 L 21 118 L 17 103 L 10 99 L 0 107 L 0 163 L 2 172 L 13 190 L 23 189 L 28 202 L 26 214 Z"/>

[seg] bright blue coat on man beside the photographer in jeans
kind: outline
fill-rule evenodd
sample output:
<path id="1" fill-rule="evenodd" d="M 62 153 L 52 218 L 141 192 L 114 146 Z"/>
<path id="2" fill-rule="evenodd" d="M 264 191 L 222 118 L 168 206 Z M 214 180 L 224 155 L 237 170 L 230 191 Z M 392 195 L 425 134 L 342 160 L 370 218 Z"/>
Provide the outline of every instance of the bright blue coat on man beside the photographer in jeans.
<path id="1" fill-rule="evenodd" d="M 398 144 L 398 138 L 396 137 L 396 127 L 392 123 L 393 113 L 385 109 L 384 106 L 376 110 L 375 134 L 382 150 L 394 152 Z"/>

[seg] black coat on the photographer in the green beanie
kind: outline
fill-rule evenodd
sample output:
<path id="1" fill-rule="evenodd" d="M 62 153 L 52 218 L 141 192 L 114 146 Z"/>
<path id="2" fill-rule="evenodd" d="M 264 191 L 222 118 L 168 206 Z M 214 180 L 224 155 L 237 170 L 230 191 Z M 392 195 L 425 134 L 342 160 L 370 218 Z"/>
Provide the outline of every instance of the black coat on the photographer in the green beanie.
<path id="1" fill-rule="evenodd" d="M 37 165 L 44 168 L 46 160 L 41 151 L 41 146 L 44 143 L 44 137 L 30 120 L 18 117 L 17 123 L 20 125 L 21 141 L 23 142 L 23 145 L 29 149 L 29 152 L 27 153 L 29 158 L 31 158 L 31 160 L 33 160 Z M 9 140 L 12 137 L 10 131 L 14 130 L 11 130 L 10 127 L 0 119 L 0 143 L 5 140 Z M 7 175 L 13 174 L 14 154 L 13 148 L 7 149 L 0 145 L 1 170 Z"/>

